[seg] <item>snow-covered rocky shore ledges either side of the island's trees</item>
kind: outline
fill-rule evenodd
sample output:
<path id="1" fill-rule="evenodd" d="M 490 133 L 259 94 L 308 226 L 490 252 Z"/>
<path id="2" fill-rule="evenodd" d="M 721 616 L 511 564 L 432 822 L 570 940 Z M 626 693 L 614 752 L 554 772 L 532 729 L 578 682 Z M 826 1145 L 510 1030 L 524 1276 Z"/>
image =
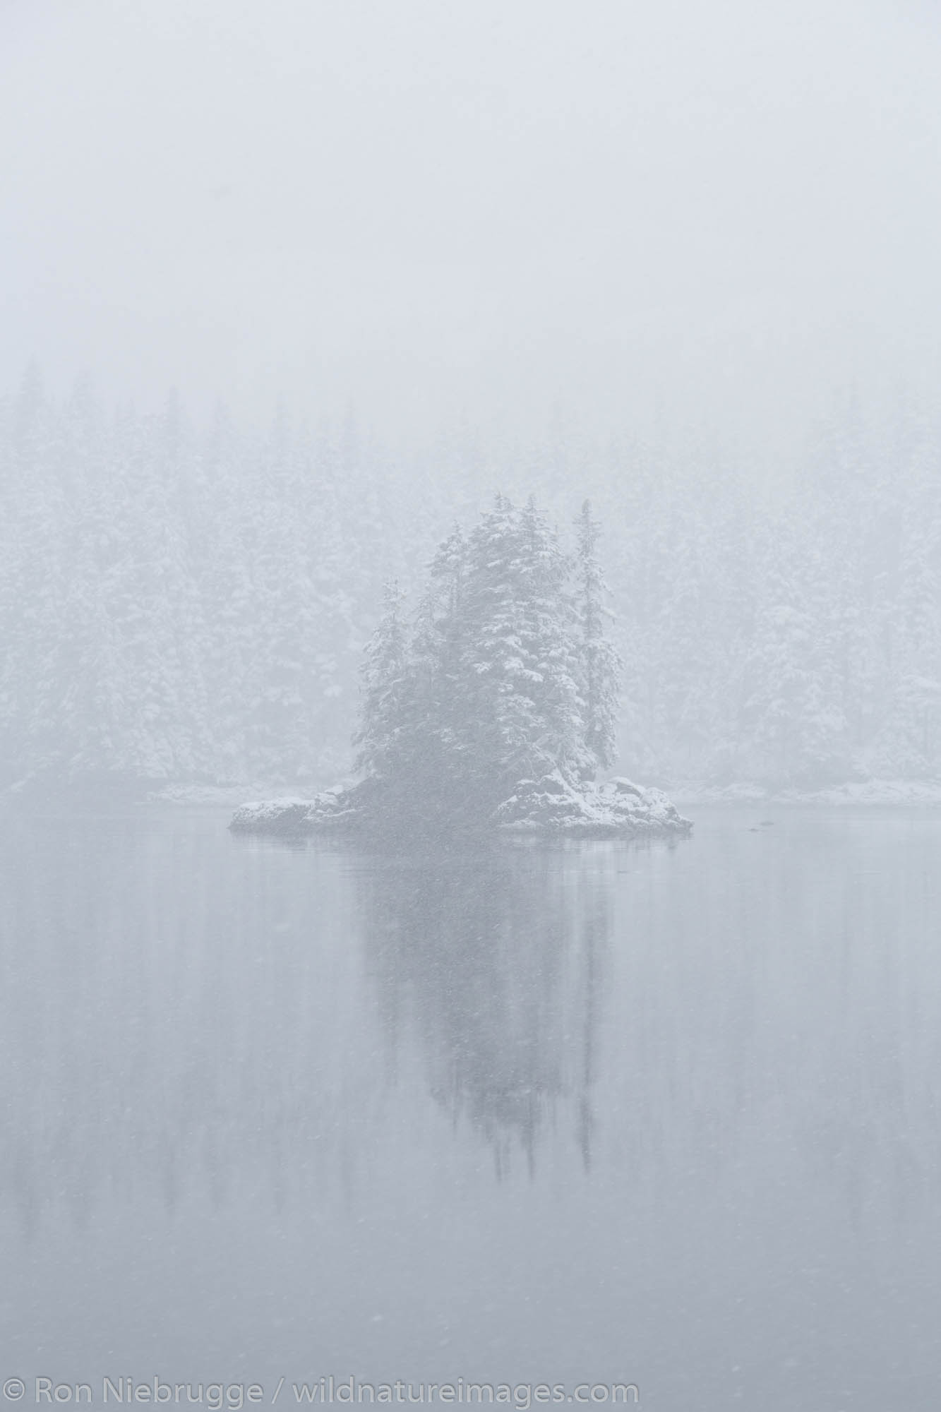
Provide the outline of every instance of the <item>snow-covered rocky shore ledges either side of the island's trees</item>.
<path id="1" fill-rule="evenodd" d="M 521 779 L 486 826 L 506 833 L 568 834 L 584 839 L 656 837 L 692 830 L 660 789 L 630 779 L 574 785 L 560 771 Z M 268 799 L 243 803 L 229 827 L 233 833 L 363 833 L 400 832 L 387 788 L 365 779 L 349 789 L 328 789 L 312 799 Z"/>

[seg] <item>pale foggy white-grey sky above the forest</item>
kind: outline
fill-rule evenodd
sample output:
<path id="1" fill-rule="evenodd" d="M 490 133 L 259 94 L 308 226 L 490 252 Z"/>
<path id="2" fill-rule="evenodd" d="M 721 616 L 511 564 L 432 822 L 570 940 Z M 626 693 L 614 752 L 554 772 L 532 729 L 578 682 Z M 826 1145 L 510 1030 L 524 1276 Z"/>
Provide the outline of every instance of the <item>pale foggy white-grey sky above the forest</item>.
<path id="1" fill-rule="evenodd" d="M 917 0 L 6 0 L 0 383 L 780 439 L 941 385 Z"/>

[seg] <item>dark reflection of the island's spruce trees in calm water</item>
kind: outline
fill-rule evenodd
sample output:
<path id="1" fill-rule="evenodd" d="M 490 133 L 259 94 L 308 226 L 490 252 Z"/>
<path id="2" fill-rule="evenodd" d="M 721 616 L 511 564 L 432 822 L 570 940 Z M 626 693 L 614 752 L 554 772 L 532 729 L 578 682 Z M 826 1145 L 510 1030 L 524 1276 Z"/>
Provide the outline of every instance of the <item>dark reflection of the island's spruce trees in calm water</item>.
<path id="1" fill-rule="evenodd" d="M 588 1169 L 600 884 L 560 867 L 558 849 L 503 844 L 374 860 L 362 902 L 391 1048 L 414 1029 L 435 1101 L 492 1145 L 497 1175 L 517 1145 L 533 1173 L 540 1130 L 569 1113 Z"/>

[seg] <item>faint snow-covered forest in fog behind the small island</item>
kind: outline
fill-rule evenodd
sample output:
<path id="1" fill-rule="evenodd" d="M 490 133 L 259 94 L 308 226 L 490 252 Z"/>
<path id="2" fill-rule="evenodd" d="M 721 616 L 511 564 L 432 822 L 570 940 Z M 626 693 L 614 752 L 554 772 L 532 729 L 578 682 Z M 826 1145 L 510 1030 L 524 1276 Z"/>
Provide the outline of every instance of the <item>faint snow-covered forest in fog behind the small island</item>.
<path id="1" fill-rule="evenodd" d="M 495 491 L 602 525 L 616 770 L 677 784 L 934 778 L 941 432 L 846 411 L 794 476 L 462 428 L 422 449 L 288 412 L 141 415 L 40 374 L 0 402 L 0 781 L 329 782 L 390 578 Z"/>

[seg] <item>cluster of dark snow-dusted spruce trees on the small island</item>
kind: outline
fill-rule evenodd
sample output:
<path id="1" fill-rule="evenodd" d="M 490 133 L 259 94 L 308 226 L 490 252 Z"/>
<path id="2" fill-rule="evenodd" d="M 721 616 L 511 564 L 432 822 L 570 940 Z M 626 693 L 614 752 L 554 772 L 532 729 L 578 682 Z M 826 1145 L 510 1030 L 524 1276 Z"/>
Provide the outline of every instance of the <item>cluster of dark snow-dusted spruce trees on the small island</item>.
<path id="1" fill-rule="evenodd" d="M 588 513 L 567 555 L 503 496 L 431 563 L 411 641 L 397 609 L 369 648 L 359 768 L 410 812 L 485 818 L 520 779 L 610 762 L 617 659 L 603 640 Z"/>

